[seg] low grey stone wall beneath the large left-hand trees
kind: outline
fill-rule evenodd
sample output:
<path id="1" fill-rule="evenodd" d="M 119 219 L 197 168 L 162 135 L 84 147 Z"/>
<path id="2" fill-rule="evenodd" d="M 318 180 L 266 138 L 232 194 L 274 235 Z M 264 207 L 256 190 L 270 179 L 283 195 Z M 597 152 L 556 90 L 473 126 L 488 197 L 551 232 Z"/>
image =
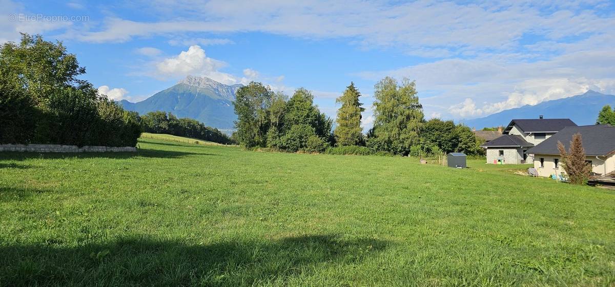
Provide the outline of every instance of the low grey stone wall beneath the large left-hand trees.
<path id="1" fill-rule="evenodd" d="M 136 147 L 101 147 L 98 145 L 0 145 L 0 151 L 32 151 L 37 153 L 103 153 L 107 151 L 137 151 Z"/>

